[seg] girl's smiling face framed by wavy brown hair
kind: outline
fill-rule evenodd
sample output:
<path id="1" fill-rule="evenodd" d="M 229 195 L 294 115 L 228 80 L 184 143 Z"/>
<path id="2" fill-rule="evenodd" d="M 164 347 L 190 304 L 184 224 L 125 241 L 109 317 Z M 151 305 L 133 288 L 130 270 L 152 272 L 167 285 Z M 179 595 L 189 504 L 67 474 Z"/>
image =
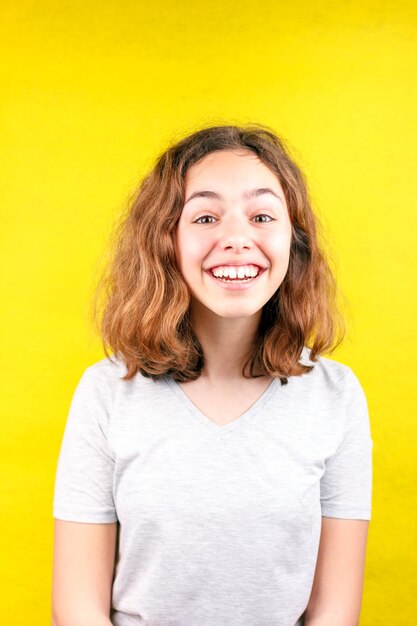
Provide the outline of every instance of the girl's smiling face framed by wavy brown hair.
<path id="1" fill-rule="evenodd" d="M 175 246 L 192 306 L 258 313 L 285 277 L 290 245 L 284 192 L 254 152 L 211 152 L 187 171 Z"/>

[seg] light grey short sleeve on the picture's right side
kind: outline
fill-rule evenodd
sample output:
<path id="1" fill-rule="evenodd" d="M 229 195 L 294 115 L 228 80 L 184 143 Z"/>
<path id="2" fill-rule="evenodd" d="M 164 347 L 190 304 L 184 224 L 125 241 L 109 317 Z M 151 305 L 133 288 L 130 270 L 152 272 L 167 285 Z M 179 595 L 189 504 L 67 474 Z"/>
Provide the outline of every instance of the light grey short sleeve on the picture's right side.
<path id="1" fill-rule="evenodd" d="M 365 393 L 350 368 L 343 397 L 345 419 L 340 443 L 326 459 L 320 481 L 322 515 L 370 520 L 373 441 Z"/>

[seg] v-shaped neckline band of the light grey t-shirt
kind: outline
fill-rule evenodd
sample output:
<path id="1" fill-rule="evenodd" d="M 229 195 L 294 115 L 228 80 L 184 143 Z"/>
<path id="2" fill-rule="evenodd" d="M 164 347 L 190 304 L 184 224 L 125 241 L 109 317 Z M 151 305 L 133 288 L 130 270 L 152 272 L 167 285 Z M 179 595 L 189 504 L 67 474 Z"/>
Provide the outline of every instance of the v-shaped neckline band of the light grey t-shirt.
<path id="1" fill-rule="evenodd" d="M 242 415 L 234 419 L 232 422 L 228 424 L 224 424 L 221 426 L 220 424 L 216 424 L 211 420 L 207 415 L 205 415 L 199 408 L 190 400 L 185 391 L 180 387 L 180 385 L 175 381 L 172 376 L 168 375 L 165 378 L 170 389 L 177 396 L 179 401 L 186 406 L 186 408 L 190 411 L 190 413 L 197 419 L 201 424 L 212 430 L 213 432 L 224 434 L 229 433 L 239 426 L 246 424 L 248 420 L 250 420 L 258 411 L 263 407 L 265 402 L 269 399 L 269 397 L 274 393 L 278 386 L 281 386 L 281 381 L 279 378 L 273 378 L 269 383 L 268 387 L 264 389 L 262 394 L 258 397 L 257 400 L 244 412 Z"/>

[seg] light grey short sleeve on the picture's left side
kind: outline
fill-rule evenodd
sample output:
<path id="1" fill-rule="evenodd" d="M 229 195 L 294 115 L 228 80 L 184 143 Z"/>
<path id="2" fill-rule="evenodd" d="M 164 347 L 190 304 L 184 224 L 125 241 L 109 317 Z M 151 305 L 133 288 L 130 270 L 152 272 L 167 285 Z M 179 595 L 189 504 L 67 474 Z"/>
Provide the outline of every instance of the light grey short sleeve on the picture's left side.
<path id="1" fill-rule="evenodd" d="M 107 433 L 111 398 L 95 366 L 75 389 L 55 477 L 53 517 L 73 522 L 117 521 L 113 500 L 114 458 Z"/>

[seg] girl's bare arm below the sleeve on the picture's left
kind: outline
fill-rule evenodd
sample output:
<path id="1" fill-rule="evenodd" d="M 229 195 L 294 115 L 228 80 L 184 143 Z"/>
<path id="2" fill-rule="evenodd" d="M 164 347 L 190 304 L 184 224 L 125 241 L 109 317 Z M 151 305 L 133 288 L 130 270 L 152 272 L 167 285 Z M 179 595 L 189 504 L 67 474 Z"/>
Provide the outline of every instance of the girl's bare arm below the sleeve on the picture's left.
<path id="1" fill-rule="evenodd" d="M 117 523 L 55 519 L 53 626 L 111 626 Z"/>

